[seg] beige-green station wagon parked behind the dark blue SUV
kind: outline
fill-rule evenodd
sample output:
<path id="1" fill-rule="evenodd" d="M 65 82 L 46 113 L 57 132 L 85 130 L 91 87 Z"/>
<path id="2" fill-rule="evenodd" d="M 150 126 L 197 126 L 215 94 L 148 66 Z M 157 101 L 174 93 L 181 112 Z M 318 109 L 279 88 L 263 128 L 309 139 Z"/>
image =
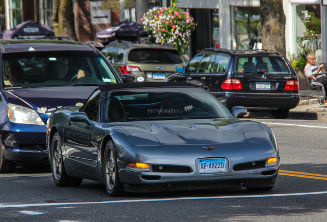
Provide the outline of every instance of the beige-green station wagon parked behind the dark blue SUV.
<path id="1" fill-rule="evenodd" d="M 171 44 L 147 45 L 122 41 L 111 42 L 101 50 L 120 77 L 135 76 L 136 82 L 162 82 L 185 63 Z"/>

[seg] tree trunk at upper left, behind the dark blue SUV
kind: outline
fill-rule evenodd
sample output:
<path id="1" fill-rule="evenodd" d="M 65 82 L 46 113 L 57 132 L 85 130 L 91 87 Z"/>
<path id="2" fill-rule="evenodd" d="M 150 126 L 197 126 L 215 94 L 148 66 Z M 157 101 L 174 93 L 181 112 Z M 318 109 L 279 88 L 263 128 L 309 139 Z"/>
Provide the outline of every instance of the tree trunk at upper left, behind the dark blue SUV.
<path id="1" fill-rule="evenodd" d="M 56 36 L 67 36 L 77 40 L 75 32 L 75 18 L 72 12 L 71 0 L 52 0 L 52 24 Z M 58 27 L 58 28 L 57 28 Z M 57 29 L 57 33 L 56 33 Z"/>

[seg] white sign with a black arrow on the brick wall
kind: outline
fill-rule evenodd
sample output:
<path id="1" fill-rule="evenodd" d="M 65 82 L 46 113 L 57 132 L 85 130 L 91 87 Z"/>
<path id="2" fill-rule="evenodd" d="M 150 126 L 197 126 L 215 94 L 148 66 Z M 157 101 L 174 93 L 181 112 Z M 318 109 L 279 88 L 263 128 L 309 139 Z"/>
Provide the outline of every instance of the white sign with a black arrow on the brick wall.
<path id="1" fill-rule="evenodd" d="M 101 2 L 90 2 L 91 24 L 111 23 L 110 10 L 103 10 Z"/>

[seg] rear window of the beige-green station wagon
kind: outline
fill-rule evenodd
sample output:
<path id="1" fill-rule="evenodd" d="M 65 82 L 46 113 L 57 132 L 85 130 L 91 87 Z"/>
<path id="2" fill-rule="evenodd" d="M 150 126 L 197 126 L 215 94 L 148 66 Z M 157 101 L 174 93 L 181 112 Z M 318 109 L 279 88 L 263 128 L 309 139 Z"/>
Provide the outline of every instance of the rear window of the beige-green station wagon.
<path id="1" fill-rule="evenodd" d="M 133 49 L 128 55 L 130 62 L 136 63 L 157 63 L 157 64 L 180 64 L 178 51 L 169 49 Z"/>

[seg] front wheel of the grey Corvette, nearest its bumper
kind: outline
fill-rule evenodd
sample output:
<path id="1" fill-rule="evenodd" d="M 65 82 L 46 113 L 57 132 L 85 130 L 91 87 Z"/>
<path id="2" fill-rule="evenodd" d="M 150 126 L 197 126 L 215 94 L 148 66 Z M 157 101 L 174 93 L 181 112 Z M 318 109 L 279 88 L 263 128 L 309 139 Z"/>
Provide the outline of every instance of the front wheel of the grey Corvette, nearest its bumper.
<path id="1" fill-rule="evenodd" d="M 104 150 L 103 176 L 105 188 L 110 196 L 120 196 L 124 189 L 118 175 L 118 162 L 115 146 L 108 141 Z"/>

